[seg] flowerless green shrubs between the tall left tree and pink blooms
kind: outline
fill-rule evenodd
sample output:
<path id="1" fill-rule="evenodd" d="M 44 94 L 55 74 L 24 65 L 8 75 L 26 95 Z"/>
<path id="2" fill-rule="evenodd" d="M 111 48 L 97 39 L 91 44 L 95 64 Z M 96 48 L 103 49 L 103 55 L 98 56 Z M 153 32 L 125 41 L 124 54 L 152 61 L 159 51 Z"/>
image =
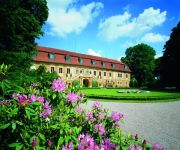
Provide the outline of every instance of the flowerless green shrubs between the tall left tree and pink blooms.
<path id="1" fill-rule="evenodd" d="M 40 66 L 37 70 L 27 70 L 19 72 L 19 70 L 11 72 L 11 66 L 1 65 L 0 78 L 0 99 L 9 98 L 8 95 L 13 93 L 24 93 L 25 87 L 31 86 L 32 83 L 37 83 L 39 89 L 49 87 L 52 80 L 57 78 L 56 72 L 50 73 L 46 71 L 45 66 Z"/>

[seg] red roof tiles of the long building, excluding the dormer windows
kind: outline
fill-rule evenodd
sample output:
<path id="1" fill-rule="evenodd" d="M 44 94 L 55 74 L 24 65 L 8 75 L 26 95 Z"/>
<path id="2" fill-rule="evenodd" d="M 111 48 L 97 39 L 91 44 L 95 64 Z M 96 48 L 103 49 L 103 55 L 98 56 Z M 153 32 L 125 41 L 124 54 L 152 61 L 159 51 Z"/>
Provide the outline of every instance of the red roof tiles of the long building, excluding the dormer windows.
<path id="1" fill-rule="evenodd" d="M 55 49 L 55 48 L 48 48 L 48 47 L 44 47 L 44 46 L 38 46 L 37 50 L 38 50 L 38 54 L 37 54 L 37 57 L 34 58 L 35 62 L 49 62 L 49 63 L 58 63 L 58 64 L 81 65 L 78 62 L 78 58 L 83 58 L 82 66 L 93 67 L 93 68 L 105 68 L 105 69 L 111 69 L 111 70 L 119 70 L 119 71 L 130 72 L 127 65 L 125 65 L 124 63 L 122 63 L 120 61 L 114 60 L 114 59 L 103 58 L 103 57 L 92 56 L 92 55 L 86 55 L 86 54 L 80 54 L 80 53 Z M 55 55 L 54 60 L 49 60 L 49 57 L 48 57 L 49 53 L 54 53 L 54 55 Z M 71 61 L 66 62 L 65 58 L 64 58 L 65 56 L 70 56 Z M 92 66 L 91 60 L 96 61 L 95 66 Z M 105 62 L 106 67 L 102 67 L 101 62 Z M 115 68 L 112 68 L 111 64 L 115 64 Z"/>

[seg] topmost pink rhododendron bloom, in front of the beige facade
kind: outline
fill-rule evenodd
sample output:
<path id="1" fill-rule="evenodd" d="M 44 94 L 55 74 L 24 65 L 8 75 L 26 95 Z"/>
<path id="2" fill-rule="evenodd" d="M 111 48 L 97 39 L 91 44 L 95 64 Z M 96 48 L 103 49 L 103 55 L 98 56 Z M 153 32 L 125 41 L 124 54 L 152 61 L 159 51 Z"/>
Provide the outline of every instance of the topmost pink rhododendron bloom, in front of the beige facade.
<path id="1" fill-rule="evenodd" d="M 65 90 L 66 86 L 60 78 L 54 79 L 52 82 L 52 89 L 54 91 L 63 92 Z"/>

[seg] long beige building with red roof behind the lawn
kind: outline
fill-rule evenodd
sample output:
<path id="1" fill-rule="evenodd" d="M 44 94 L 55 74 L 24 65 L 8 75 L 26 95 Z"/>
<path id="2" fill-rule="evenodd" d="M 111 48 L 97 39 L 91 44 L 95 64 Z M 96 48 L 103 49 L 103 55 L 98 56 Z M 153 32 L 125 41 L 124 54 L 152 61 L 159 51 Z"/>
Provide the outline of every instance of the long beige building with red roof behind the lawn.
<path id="1" fill-rule="evenodd" d="M 56 71 L 68 86 L 78 80 L 80 86 L 129 87 L 130 69 L 120 61 L 38 46 L 34 68 L 45 65 L 49 72 Z"/>

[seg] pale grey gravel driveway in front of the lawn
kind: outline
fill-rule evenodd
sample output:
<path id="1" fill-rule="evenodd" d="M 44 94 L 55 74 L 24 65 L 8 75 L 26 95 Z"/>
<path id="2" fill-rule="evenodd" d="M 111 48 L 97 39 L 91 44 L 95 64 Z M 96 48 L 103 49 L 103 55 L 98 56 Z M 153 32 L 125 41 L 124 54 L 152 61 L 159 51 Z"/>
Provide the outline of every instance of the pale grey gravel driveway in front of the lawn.
<path id="1" fill-rule="evenodd" d="M 101 102 L 110 111 L 123 112 L 122 128 L 138 134 L 149 143 L 157 142 L 168 150 L 180 150 L 180 101 L 165 103 Z M 93 105 L 88 101 L 87 109 Z"/>

